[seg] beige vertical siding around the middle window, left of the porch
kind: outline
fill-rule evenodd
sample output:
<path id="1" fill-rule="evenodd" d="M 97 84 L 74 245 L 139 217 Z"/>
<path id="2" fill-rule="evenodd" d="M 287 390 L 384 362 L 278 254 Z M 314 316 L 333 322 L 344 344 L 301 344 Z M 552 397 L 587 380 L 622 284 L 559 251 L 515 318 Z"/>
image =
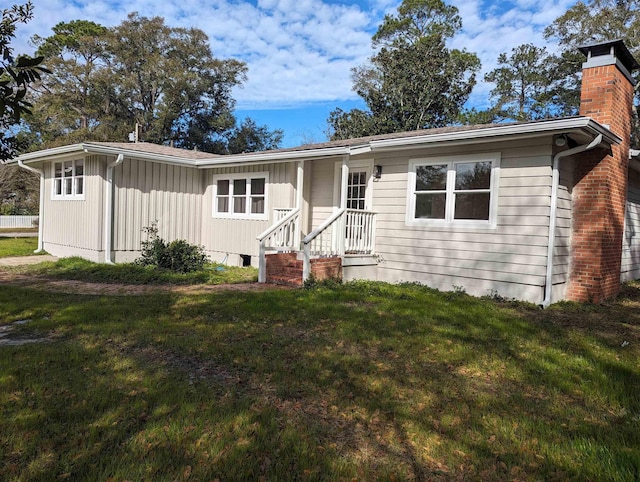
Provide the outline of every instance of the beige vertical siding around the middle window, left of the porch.
<path id="1" fill-rule="evenodd" d="M 296 162 L 259 164 L 251 166 L 216 168 L 203 171 L 205 191 L 202 197 L 201 244 L 214 261 L 230 265 L 242 263 L 240 255 L 251 256 L 251 264 L 258 263 L 259 243 L 256 240 L 274 222 L 274 208 L 295 206 Z M 266 213 L 268 219 L 232 219 L 213 216 L 214 177 L 229 174 L 268 172 Z M 225 259 L 226 258 L 226 259 Z"/>

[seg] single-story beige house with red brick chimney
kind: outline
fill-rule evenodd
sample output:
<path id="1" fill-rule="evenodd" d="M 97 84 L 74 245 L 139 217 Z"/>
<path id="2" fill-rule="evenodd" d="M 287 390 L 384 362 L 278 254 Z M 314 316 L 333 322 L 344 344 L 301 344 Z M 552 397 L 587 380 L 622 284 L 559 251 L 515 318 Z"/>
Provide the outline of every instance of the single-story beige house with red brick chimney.
<path id="1" fill-rule="evenodd" d="M 402 132 L 216 156 L 86 142 L 10 161 L 41 178 L 39 247 L 135 259 L 142 228 L 310 275 L 498 294 L 548 305 L 614 296 L 640 277 L 638 63 L 621 41 L 581 48 L 579 116 Z"/>

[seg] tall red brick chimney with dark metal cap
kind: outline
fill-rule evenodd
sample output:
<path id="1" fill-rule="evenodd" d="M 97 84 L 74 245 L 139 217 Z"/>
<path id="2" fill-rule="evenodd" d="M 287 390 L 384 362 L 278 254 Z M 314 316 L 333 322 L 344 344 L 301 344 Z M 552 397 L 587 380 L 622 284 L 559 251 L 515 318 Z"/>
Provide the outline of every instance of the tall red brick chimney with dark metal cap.
<path id="1" fill-rule="evenodd" d="M 620 291 L 620 261 L 627 199 L 633 90 L 639 67 L 621 40 L 581 47 L 580 115 L 604 124 L 622 139 L 611 150 L 576 159 L 571 270 L 567 298 L 600 303 Z"/>

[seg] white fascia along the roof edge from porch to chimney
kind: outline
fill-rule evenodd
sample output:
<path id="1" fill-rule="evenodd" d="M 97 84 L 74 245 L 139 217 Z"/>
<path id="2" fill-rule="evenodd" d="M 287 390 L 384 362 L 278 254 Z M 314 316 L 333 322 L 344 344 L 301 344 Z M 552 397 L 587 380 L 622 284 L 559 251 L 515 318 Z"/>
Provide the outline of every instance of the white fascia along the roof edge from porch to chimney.
<path id="1" fill-rule="evenodd" d="M 424 136 L 403 137 L 395 139 L 384 139 L 371 141 L 371 150 L 381 151 L 387 149 L 401 149 L 412 147 L 427 147 L 429 145 L 452 145 L 452 144 L 472 144 L 480 142 L 492 142 L 497 137 L 508 137 L 509 139 L 523 139 L 540 137 L 554 132 L 566 132 L 570 130 L 586 130 L 592 135 L 602 134 L 611 144 L 620 144 L 622 139 L 611 132 L 606 127 L 597 123 L 589 117 L 579 117 L 570 119 L 558 119 L 551 121 L 539 121 L 528 124 L 518 124 L 510 126 L 488 127 L 477 130 L 467 130 L 459 132 L 447 132 L 442 134 L 426 134 Z"/>

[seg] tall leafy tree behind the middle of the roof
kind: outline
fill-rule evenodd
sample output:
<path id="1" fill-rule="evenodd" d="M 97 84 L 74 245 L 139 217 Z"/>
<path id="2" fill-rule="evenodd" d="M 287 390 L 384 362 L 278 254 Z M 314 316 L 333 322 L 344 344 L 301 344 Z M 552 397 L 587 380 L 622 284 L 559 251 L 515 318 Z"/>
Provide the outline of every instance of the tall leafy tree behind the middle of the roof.
<path id="1" fill-rule="evenodd" d="M 440 127 L 457 119 L 476 82 L 478 57 L 449 49 L 458 10 L 441 0 L 404 0 L 372 38 L 378 52 L 352 69 L 353 89 L 368 110 L 336 109 L 332 139 Z"/>

